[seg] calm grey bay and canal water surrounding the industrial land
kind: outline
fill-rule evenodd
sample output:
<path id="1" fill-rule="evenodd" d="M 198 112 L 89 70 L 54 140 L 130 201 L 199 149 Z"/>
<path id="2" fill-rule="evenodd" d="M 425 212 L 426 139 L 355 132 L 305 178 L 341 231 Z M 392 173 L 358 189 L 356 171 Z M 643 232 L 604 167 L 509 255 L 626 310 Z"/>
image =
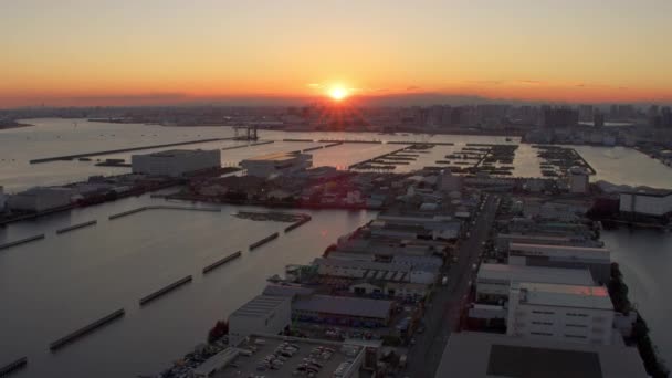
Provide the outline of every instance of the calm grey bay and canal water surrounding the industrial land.
<path id="1" fill-rule="evenodd" d="M 98 124 L 67 119 L 30 120 L 35 127 L 0 130 L 0 185 L 13 192 L 35 185 L 64 183 L 91 175 L 112 175 L 128 168 L 95 167 L 91 161 L 59 161 L 29 165 L 29 159 L 229 137 L 229 127 L 161 127 Z M 262 132 L 262 138 L 380 139 L 452 141 L 438 146 L 422 159 L 399 170 L 435 165 L 466 143 L 505 143 L 502 137 L 390 136 L 344 133 Z M 223 140 L 185 148 L 224 148 L 240 141 Z M 234 165 L 246 157 L 304 149 L 319 143 L 283 143 L 223 150 L 222 164 Z M 399 145 L 342 145 L 313 153 L 314 162 L 345 168 L 348 165 L 398 149 Z M 578 147 L 598 170 L 597 179 L 616 183 L 672 188 L 672 168 L 626 148 Z M 129 159 L 132 154 L 96 158 Z M 536 150 L 521 145 L 514 159 L 516 176 L 540 175 Z M 231 216 L 238 208 L 222 207 L 221 213 L 148 211 L 108 221 L 112 213 L 147 203 L 164 203 L 148 196 L 128 198 L 77 209 L 34 222 L 0 229 L 0 242 L 46 233 L 46 239 L 0 252 L 0 364 L 29 356 L 30 367 L 18 377 L 134 377 L 151 374 L 196 344 L 203 342 L 216 319 L 225 318 L 256 295 L 272 274 L 287 263 L 306 263 L 336 238 L 371 219 L 371 212 L 314 211 L 313 221 L 208 276 L 202 266 L 279 230 L 285 223 L 253 222 Z M 69 224 L 96 219 L 98 224 L 55 235 Z M 621 262 L 631 296 L 653 329 L 653 339 L 672 361 L 672 287 L 666 271 L 672 269 L 672 235 L 647 231 L 610 231 L 603 239 Z M 137 300 L 164 285 L 192 274 L 195 281 L 140 309 Z M 48 344 L 116 308 L 127 314 L 120 322 L 90 337 L 50 354 Z"/>

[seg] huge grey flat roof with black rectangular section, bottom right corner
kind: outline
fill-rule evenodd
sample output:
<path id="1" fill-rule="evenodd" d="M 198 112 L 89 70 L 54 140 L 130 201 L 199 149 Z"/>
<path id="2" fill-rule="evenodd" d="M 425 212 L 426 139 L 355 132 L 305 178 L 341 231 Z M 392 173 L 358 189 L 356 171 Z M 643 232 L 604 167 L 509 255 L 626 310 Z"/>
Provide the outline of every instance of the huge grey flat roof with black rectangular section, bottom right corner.
<path id="1" fill-rule="evenodd" d="M 453 333 L 435 378 L 644 378 L 637 348 Z"/>

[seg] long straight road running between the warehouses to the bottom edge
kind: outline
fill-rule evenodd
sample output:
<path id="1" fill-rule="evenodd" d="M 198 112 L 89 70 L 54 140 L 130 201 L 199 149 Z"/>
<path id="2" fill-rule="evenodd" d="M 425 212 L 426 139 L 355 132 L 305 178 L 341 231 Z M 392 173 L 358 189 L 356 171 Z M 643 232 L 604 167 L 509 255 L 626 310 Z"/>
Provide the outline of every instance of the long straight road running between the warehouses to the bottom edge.
<path id="1" fill-rule="evenodd" d="M 441 356 L 451 332 L 460 326 L 460 314 L 470 291 L 470 280 L 475 281 L 472 265 L 479 262 L 483 242 L 495 218 L 498 198 L 487 196 L 483 210 L 475 219 L 470 230 L 470 238 L 462 240 L 458 246 L 458 262 L 449 272 L 445 286 L 438 286 L 431 307 L 424 315 L 426 332 L 416 336 L 416 345 L 411 347 L 408 356 L 408 367 L 402 377 L 433 378 L 439 367 Z"/>

